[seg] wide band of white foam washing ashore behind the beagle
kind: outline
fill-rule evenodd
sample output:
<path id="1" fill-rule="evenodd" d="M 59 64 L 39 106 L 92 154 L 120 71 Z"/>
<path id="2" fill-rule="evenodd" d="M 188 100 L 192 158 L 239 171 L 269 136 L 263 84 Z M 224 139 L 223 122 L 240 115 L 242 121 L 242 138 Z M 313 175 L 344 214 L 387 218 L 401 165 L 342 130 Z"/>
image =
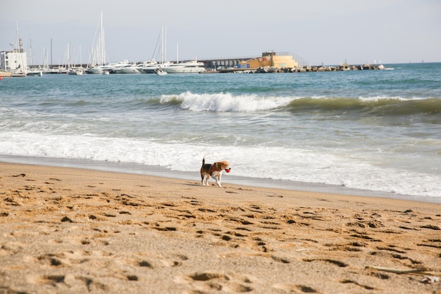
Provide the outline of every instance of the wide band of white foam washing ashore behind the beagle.
<path id="1" fill-rule="evenodd" d="M 368 162 L 318 150 L 162 144 L 128 138 L 13 132 L 1 133 L 0 140 L 0 154 L 136 163 L 173 171 L 198 171 L 203 155 L 211 152 L 207 161 L 228 159 L 234 176 L 344 185 L 404 195 L 441 195 L 437 176 L 380 169 Z"/>

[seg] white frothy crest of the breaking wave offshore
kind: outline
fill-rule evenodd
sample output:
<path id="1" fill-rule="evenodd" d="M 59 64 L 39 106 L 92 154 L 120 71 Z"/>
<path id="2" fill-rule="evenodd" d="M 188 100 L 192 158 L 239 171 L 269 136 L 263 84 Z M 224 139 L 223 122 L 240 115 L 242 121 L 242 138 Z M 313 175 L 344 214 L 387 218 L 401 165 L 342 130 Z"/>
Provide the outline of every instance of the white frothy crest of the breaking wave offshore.
<path id="1" fill-rule="evenodd" d="M 276 109 L 290 103 L 290 97 L 259 97 L 256 94 L 232 95 L 230 93 L 194 94 L 185 92 L 163 95 L 161 102 L 177 99 L 182 109 L 191 111 L 253 112 Z"/>

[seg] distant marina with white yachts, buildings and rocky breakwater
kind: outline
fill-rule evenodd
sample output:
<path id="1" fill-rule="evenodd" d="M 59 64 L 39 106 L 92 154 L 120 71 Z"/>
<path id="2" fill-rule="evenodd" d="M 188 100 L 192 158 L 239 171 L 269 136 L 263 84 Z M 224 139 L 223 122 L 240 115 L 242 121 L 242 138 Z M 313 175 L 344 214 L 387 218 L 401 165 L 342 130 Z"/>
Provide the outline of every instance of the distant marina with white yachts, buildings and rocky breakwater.
<path id="1" fill-rule="evenodd" d="M 42 76 L 46 74 L 67 73 L 68 75 L 87 74 L 134 74 L 134 73 L 303 73 L 322 71 L 358 71 L 385 69 L 383 64 L 349 65 L 342 63 L 338 66 L 311 66 L 301 57 L 290 52 L 265 51 L 261 56 L 242 56 L 239 58 L 213 58 L 213 59 L 191 59 L 178 61 L 178 47 L 176 60 L 168 61 L 166 57 L 166 26 L 161 27 L 158 48 L 156 55 L 160 61 L 130 62 L 128 60 L 108 62 L 106 56 L 106 45 L 104 37 L 103 13 L 101 11 L 99 22 L 99 35 L 94 40 L 92 50 L 89 52 L 89 61 L 75 65 L 73 48 L 68 44 L 68 56 L 66 63 L 35 66 L 32 64 L 32 52 L 30 65 L 27 63 L 27 53 L 23 47 L 23 39 L 18 33 L 15 48 L 11 51 L 0 51 L 0 77 L 25 77 L 27 75 Z"/>

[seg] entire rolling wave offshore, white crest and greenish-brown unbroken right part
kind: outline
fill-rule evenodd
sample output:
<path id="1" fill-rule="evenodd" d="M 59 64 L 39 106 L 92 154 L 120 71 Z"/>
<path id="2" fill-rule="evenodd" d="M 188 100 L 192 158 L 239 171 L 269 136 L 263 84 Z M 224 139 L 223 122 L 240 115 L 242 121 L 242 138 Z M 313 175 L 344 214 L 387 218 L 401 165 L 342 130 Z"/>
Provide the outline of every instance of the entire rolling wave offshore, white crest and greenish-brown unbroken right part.
<path id="1" fill-rule="evenodd" d="M 233 95 L 230 93 L 163 95 L 162 106 L 179 106 L 190 111 L 255 112 L 272 109 L 288 111 L 344 111 L 374 116 L 440 114 L 439 98 L 401 97 L 263 97 L 256 94 Z"/>

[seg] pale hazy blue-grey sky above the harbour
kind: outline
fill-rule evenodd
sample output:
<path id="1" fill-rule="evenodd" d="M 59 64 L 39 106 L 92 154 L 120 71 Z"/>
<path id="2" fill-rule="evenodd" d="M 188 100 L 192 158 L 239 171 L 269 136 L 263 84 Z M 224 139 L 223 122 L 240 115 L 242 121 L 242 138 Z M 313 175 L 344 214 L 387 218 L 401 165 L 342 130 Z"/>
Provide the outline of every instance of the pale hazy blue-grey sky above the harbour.
<path id="1" fill-rule="evenodd" d="M 168 60 L 179 44 L 180 60 L 287 51 L 312 65 L 441 61 L 440 0 L 0 0 L 0 51 L 12 49 L 18 20 L 34 64 L 51 39 L 54 63 L 69 42 L 87 63 L 101 11 L 112 62 L 155 58 L 161 25 Z"/>

